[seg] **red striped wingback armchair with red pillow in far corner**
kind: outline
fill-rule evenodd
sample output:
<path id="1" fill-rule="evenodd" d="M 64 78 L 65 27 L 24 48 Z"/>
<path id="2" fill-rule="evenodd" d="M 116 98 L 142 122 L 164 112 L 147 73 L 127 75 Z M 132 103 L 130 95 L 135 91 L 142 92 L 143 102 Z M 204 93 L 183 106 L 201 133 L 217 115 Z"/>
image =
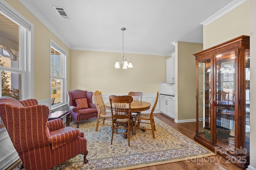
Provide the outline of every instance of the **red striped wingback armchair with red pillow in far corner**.
<path id="1" fill-rule="evenodd" d="M 98 111 L 94 103 L 92 103 L 93 92 L 87 90 L 68 91 L 68 107 L 70 109 L 71 121 L 74 119 L 79 127 L 79 121 L 97 117 Z"/>

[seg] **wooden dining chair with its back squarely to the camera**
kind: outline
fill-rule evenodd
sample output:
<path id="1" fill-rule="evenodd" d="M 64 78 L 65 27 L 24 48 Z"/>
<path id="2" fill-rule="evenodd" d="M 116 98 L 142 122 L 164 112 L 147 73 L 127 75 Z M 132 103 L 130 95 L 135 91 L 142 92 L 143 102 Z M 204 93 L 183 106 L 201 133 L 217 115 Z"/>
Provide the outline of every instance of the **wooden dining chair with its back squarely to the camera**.
<path id="1" fill-rule="evenodd" d="M 128 146 L 130 147 L 130 133 L 133 133 L 133 119 L 131 118 L 131 96 L 109 96 L 109 102 L 112 113 L 112 137 L 111 145 L 113 142 L 114 133 L 124 134 L 124 137 L 128 137 Z M 125 129 L 124 131 L 118 131 L 118 129 Z"/>

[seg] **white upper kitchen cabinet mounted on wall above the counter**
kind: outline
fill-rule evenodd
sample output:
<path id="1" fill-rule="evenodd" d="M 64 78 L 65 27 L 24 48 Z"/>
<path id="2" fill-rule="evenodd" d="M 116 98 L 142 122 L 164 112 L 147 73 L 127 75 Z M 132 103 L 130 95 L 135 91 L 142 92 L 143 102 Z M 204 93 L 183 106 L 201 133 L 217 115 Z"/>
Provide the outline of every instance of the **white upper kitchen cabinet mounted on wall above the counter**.
<path id="1" fill-rule="evenodd" d="M 175 57 L 166 59 L 166 83 L 175 83 Z"/>

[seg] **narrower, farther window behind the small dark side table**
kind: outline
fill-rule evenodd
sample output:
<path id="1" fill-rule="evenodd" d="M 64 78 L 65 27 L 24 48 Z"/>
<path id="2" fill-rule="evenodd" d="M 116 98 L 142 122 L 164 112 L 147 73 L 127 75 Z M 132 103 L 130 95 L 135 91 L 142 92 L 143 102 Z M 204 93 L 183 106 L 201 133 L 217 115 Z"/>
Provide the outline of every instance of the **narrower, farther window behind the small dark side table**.
<path id="1" fill-rule="evenodd" d="M 52 107 L 66 103 L 66 51 L 51 40 L 50 82 Z"/>

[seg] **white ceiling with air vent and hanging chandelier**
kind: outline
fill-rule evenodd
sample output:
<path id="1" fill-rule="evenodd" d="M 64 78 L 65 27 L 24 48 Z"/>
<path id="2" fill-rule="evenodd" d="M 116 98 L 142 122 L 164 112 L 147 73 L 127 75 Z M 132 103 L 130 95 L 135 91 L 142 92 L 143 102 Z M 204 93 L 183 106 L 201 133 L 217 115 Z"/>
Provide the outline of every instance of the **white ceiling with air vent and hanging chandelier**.
<path id="1" fill-rule="evenodd" d="M 200 24 L 241 0 L 19 0 L 70 49 L 171 55 L 174 41 L 203 43 Z M 63 7 L 70 19 L 58 16 Z M 226 7 L 225 7 L 226 6 Z M 225 7 L 225 8 L 224 8 Z M 222 9 L 223 8 L 223 9 Z"/>

